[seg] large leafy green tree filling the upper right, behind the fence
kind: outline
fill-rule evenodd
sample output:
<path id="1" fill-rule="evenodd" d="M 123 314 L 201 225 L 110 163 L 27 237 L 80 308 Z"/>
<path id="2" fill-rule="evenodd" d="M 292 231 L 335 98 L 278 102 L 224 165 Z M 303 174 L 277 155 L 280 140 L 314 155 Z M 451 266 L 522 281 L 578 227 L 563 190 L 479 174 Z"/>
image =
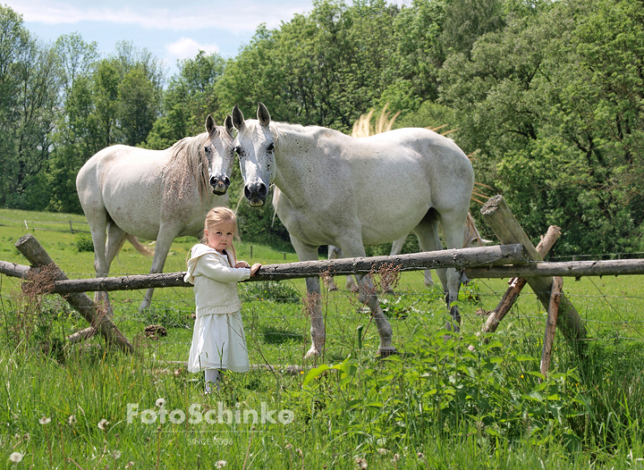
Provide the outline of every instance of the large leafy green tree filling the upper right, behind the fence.
<path id="1" fill-rule="evenodd" d="M 441 98 L 461 112 L 458 140 L 481 150 L 479 180 L 504 193 L 534 236 L 563 227 L 555 253 L 639 246 L 640 6 L 546 5 L 441 72 Z"/>

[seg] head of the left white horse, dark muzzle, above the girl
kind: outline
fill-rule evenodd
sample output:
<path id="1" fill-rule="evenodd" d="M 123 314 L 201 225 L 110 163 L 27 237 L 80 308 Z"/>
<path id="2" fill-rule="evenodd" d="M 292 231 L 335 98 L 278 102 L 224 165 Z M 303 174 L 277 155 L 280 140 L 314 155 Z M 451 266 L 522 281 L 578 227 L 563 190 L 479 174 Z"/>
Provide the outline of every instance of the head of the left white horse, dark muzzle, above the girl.
<path id="1" fill-rule="evenodd" d="M 206 131 L 208 141 L 204 145 L 204 152 L 208 159 L 209 183 L 213 193 L 222 196 L 230 186 L 228 175 L 233 170 L 233 118 L 228 114 L 225 125 L 217 126 L 213 117 L 208 114 Z"/>

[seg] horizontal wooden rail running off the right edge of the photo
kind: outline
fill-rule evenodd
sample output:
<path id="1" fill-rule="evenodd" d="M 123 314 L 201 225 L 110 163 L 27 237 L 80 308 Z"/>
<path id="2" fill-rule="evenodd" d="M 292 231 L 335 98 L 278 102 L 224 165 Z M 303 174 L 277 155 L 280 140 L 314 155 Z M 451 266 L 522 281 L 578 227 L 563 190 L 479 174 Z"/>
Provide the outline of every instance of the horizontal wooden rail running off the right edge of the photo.
<path id="1" fill-rule="evenodd" d="M 490 266 L 465 269 L 470 279 L 536 278 L 547 276 L 625 276 L 644 274 L 644 259 L 605 259 L 600 261 L 561 261 L 526 264 L 524 266 Z"/>

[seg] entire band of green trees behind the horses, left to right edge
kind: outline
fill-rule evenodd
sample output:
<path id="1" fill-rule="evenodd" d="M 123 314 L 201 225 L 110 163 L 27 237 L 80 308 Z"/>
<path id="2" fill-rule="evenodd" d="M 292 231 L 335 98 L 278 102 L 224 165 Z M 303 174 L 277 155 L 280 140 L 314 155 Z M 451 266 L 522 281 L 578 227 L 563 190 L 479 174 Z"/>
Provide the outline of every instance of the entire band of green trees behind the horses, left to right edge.
<path id="1" fill-rule="evenodd" d="M 389 104 L 396 126 L 457 129 L 477 180 L 532 237 L 562 228 L 555 254 L 644 249 L 642 12 L 641 0 L 316 0 L 232 59 L 182 61 L 164 90 L 147 51 L 98 57 L 78 35 L 45 46 L 0 7 L 0 205 L 80 211 L 89 156 L 170 147 L 233 105 L 349 132 Z M 271 207 L 242 200 L 239 214 L 247 239 L 287 243 Z"/>

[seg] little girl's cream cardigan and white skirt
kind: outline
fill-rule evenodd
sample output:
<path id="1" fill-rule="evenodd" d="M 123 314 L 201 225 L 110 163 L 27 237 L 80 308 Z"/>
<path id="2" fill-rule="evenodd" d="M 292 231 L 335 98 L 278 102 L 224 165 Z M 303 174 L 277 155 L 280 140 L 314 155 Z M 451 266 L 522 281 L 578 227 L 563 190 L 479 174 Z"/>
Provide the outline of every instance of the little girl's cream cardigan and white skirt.
<path id="1" fill-rule="evenodd" d="M 237 282 L 250 278 L 249 268 L 231 267 L 226 253 L 199 244 L 191 250 L 185 280 L 194 284 L 197 318 L 192 332 L 188 371 L 249 370 L 242 303 Z"/>

